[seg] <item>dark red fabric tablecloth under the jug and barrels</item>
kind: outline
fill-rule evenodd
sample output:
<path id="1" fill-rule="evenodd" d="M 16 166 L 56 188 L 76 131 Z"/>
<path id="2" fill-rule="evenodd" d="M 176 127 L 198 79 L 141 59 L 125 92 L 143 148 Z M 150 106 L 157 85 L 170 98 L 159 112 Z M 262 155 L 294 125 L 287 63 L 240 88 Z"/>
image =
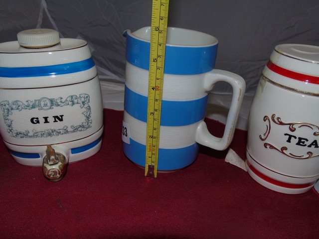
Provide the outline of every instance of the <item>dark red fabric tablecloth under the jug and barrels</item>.
<path id="1" fill-rule="evenodd" d="M 197 160 L 158 178 L 122 151 L 123 112 L 104 110 L 102 149 L 68 165 L 60 182 L 16 163 L 0 142 L 1 238 L 318 239 L 319 197 L 271 191 L 201 147 Z M 223 125 L 206 119 L 220 136 Z M 231 148 L 244 158 L 246 131 Z"/>

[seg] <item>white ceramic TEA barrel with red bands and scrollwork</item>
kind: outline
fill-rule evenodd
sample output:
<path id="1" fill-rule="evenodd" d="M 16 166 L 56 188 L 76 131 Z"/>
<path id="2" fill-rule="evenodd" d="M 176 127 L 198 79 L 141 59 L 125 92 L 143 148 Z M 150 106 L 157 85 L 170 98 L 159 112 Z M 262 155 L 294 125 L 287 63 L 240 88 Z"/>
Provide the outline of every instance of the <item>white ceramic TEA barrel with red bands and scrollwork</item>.
<path id="1" fill-rule="evenodd" d="M 247 170 L 272 190 L 298 194 L 319 178 L 319 47 L 282 44 L 252 102 Z"/>

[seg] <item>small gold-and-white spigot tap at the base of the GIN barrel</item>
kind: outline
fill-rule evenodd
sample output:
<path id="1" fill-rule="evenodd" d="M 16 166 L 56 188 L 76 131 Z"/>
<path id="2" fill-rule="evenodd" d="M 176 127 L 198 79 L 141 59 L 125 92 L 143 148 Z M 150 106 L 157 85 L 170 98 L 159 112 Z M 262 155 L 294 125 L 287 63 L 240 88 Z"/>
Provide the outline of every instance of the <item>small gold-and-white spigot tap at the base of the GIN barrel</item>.
<path id="1" fill-rule="evenodd" d="M 44 177 L 52 182 L 60 181 L 66 173 L 66 165 L 66 157 L 61 153 L 56 153 L 53 147 L 48 144 L 46 155 L 42 161 Z"/>

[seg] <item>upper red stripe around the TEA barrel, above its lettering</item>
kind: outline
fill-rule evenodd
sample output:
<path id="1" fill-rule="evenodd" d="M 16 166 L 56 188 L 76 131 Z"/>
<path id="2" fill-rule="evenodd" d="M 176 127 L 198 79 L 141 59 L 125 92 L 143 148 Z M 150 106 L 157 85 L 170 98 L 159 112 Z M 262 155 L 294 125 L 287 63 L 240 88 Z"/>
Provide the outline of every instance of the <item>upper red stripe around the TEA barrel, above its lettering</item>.
<path id="1" fill-rule="evenodd" d="M 268 61 L 267 67 L 269 70 L 276 72 L 279 75 L 286 76 L 288 78 L 297 80 L 297 81 L 303 81 L 303 82 L 309 82 L 312 84 L 319 84 L 319 77 L 317 76 L 309 76 L 302 73 L 294 72 L 287 70 L 285 68 L 282 68 L 280 66 L 275 65 L 271 61 Z"/>

